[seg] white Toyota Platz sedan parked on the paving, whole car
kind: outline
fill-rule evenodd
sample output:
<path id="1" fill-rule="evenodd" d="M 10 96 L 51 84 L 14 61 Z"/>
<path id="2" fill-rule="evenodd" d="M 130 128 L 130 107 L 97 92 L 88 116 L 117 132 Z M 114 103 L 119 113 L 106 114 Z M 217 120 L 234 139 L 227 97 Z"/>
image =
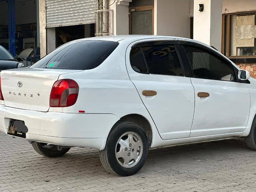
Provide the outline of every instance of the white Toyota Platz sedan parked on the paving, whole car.
<path id="1" fill-rule="evenodd" d="M 79 39 L 0 76 L 0 130 L 46 157 L 95 148 L 128 176 L 149 148 L 245 137 L 256 150 L 256 80 L 198 41 Z"/>

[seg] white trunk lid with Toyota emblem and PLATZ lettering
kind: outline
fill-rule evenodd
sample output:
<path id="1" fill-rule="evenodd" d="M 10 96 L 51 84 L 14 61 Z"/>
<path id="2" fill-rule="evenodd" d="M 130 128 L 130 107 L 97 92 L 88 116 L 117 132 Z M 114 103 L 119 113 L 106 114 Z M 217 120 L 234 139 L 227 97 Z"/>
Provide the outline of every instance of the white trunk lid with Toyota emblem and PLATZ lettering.
<path id="1" fill-rule="evenodd" d="M 61 74 L 82 70 L 20 68 L 2 71 L 4 105 L 36 111 L 48 111 L 52 86 Z"/>

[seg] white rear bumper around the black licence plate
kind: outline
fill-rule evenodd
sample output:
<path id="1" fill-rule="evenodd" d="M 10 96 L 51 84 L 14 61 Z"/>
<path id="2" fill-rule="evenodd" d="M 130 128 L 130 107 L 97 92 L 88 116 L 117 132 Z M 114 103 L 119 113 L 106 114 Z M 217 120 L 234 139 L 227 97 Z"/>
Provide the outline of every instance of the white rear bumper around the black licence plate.
<path id="1" fill-rule="evenodd" d="M 40 112 L 0 105 L 0 131 L 6 134 L 10 118 L 25 122 L 27 140 L 100 150 L 119 120 L 113 114 Z"/>

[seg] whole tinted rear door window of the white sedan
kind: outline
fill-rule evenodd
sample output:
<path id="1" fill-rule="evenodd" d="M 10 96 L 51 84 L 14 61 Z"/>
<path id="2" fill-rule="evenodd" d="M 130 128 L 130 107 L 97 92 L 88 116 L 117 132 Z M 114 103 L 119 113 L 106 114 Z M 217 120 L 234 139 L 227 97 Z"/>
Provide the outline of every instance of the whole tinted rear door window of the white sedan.
<path id="1" fill-rule="evenodd" d="M 133 70 L 139 73 L 184 76 L 174 45 L 132 48 L 130 61 Z"/>

